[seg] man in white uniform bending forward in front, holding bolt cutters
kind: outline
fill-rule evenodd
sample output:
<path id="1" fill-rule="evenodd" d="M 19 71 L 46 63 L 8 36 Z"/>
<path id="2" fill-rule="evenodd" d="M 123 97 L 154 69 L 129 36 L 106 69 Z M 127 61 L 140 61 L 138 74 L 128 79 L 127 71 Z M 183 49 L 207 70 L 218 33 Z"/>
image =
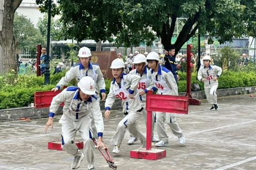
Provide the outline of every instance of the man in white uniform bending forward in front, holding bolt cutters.
<path id="1" fill-rule="evenodd" d="M 53 129 L 53 117 L 57 112 L 59 105 L 64 102 L 63 115 L 60 118 L 62 131 L 61 147 L 68 154 L 74 156 L 72 169 L 77 169 L 80 166 L 84 156 L 89 163 L 88 169 L 93 170 L 94 167 L 94 151 L 95 144 L 92 141 L 91 130 L 91 111 L 93 112 L 95 127 L 98 132 L 98 146 L 106 148 L 102 141 L 104 130 L 103 118 L 100 111 L 100 106 L 95 94 L 95 82 L 91 77 L 83 77 L 78 82 L 78 87 L 70 86 L 60 94 L 53 97 L 50 106 L 49 120 L 45 125 L 45 132 L 51 126 Z M 75 144 L 76 132 L 79 131 L 84 140 L 84 152 L 78 150 Z"/>

